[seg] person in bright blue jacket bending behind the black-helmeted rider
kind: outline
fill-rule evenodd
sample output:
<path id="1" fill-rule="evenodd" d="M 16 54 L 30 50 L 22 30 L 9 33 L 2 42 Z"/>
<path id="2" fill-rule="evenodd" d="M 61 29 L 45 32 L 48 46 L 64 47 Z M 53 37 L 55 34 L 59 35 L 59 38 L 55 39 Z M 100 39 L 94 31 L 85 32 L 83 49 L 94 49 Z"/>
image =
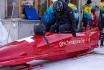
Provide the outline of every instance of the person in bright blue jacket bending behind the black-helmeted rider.
<path id="1" fill-rule="evenodd" d="M 50 27 L 51 25 L 53 25 L 55 23 L 55 11 L 53 9 L 53 6 L 51 5 L 46 12 L 44 13 L 42 19 L 41 19 L 41 23 L 43 23 L 46 27 L 46 31 L 49 32 L 50 31 Z"/>

